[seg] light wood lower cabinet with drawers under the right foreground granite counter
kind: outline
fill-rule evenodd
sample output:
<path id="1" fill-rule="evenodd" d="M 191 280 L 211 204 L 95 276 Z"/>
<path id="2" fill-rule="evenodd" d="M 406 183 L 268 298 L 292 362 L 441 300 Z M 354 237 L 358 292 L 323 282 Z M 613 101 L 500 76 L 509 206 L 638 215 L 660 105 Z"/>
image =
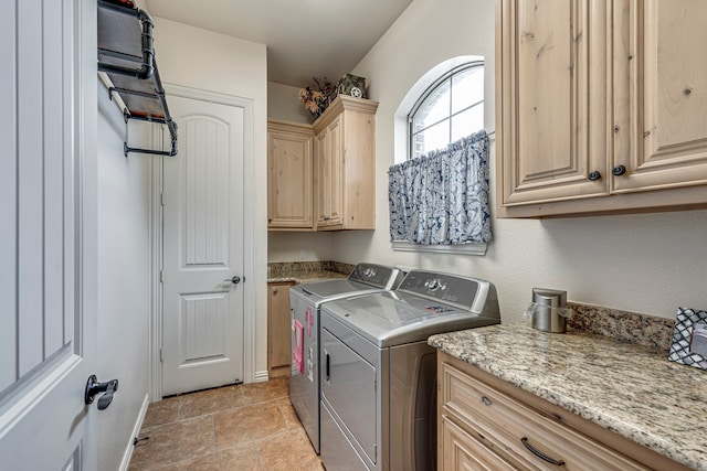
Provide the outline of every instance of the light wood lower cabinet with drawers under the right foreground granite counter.
<path id="1" fill-rule="evenodd" d="M 445 353 L 437 366 L 440 470 L 686 469 Z"/>

